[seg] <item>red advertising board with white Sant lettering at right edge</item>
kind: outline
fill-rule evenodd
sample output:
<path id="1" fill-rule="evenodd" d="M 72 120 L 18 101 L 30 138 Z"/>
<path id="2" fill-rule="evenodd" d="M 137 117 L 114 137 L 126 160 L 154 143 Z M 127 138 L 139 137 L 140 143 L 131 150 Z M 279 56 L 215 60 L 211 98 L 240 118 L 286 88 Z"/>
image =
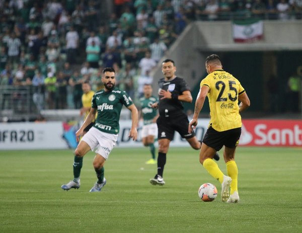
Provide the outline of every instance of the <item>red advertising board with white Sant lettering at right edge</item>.
<path id="1" fill-rule="evenodd" d="M 239 144 L 302 146 L 302 120 L 243 120 Z"/>

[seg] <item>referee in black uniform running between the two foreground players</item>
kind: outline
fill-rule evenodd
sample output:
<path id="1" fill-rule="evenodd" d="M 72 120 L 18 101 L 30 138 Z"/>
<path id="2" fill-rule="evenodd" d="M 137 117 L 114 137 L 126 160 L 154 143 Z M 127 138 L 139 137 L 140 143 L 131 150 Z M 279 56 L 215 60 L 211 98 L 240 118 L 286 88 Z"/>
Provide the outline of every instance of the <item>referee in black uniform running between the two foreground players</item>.
<path id="1" fill-rule="evenodd" d="M 158 172 L 150 183 L 153 185 L 164 185 L 163 179 L 166 156 L 169 150 L 170 141 L 177 131 L 182 138 L 185 138 L 192 148 L 200 149 L 201 142 L 197 140 L 195 133 L 188 133 L 189 120 L 184 113 L 182 102 L 192 103 L 190 89 L 186 82 L 175 75 L 176 66 L 173 60 L 166 59 L 162 63 L 164 78 L 159 81 L 159 103 L 153 104 L 153 108 L 159 108 L 158 125 Z M 214 159 L 219 160 L 218 154 Z"/>

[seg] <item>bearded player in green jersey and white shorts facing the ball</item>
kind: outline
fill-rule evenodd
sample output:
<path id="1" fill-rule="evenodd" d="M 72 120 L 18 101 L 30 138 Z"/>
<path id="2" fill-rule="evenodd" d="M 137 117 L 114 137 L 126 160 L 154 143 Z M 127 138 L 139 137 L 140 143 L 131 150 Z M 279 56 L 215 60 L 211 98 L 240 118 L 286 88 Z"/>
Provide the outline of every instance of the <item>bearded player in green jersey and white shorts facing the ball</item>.
<path id="1" fill-rule="evenodd" d="M 83 165 L 83 157 L 92 150 L 96 152 L 93 167 L 97 174 L 97 182 L 90 192 L 100 192 L 106 184 L 104 177 L 104 163 L 109 153 L 116 144 L 119 133 L 119 118 L 123 105 L 131 111 L 131 129 L 129 137 L 137 138 L 138 112 L 131 98 L 124 91 L 115 88 L 115 70 L 111 67 L 103 70 L 102 82 L 104 89 L 95 93 L 92 99 L 90 113 L 86 117 L 81 128 L 75 133 L 77 140 L 83 135 L 84 129 L 94 120 L 98 113 L 94 126 L 83 136 L 78 147 L 74 151 L 73 180 L 62 185 L 63 190 L 80 188 L 80 173 Z"/>

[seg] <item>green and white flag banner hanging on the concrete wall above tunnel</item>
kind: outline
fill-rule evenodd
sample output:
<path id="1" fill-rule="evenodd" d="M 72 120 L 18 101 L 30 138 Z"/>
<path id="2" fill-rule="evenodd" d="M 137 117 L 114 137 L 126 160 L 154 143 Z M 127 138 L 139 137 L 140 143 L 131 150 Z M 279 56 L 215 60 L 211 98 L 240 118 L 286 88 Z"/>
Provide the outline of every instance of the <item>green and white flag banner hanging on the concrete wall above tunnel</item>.
<path id="1" fill-rule="evenodd" d="M 239 43 L 263 39 L 263 21 L 233 21 L 233 38 Z"/>

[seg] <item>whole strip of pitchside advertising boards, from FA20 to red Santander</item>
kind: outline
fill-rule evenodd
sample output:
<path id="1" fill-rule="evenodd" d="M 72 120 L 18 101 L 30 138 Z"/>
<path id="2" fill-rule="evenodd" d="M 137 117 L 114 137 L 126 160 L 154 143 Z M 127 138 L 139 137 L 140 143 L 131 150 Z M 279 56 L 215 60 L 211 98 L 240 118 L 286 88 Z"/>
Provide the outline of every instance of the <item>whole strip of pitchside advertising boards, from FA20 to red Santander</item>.
<path id="1" fill-rule="evenodd" d="M 198 119 L 196 137 L 202 140 L 209 119 Z M 75 132 L 79 122 L 0 123 L 0 150 L 6 149 L 66 149 L 75 148 Z M 133 141 L 128 137 L 131 120 L 120 121 L 117 147 L 141 147 L 141 127 Z M 243 120 L 241 146 L 302 146 L 302 120 Z M 189 143 L 175 132 L 171 146 Z M 156 146 L 158 143 L 156 142 Z M 1 152 L 0 152 L 1 153 Z"/>

